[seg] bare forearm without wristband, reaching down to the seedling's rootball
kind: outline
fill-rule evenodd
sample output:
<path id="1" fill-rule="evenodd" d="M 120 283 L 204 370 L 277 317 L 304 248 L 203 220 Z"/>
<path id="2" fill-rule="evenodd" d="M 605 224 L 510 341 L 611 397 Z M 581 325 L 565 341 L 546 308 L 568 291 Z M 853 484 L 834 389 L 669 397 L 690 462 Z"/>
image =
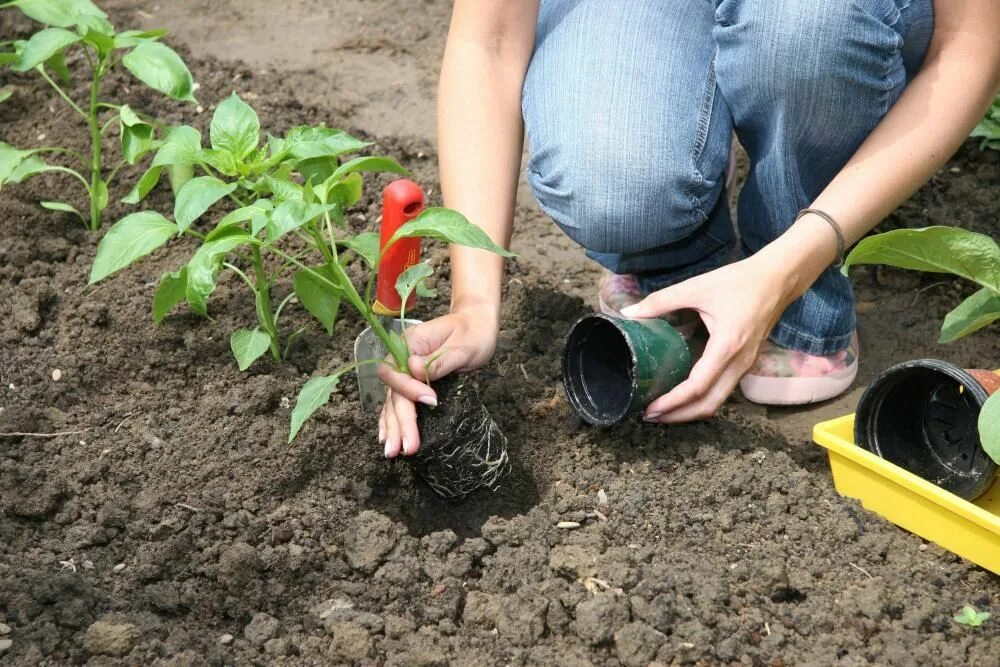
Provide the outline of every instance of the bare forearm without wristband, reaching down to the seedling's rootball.
<path id="1" fill-rule="evenodd" d="M 525 49 L 528 49 L 525 52 Z M 523 144 L 521 87 L 530 45 L 498 54 L 476 41 L 449 38 L 438 99 L 441 189 L 494 242 L 507 247 Z M 498 315 L 503 258 L 452 246 L 452 309 Z"/>

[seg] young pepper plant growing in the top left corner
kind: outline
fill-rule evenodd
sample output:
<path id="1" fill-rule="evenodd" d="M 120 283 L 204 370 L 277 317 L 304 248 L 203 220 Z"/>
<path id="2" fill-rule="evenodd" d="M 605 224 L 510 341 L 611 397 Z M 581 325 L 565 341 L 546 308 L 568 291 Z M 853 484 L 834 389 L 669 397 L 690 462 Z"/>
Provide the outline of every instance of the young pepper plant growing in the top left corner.
<path id="1" fill-rule="evenodd" d="M 158 124 L 127 104 L 103 99 L 103 80 L 122 65 L 150 88 L 175 100 L 194 102 L 191 73 L 175 51 L 159 42 L 165 30 L 117 32 L 107 15 L 90 0 L 14 0 L 0 5 L 0 9 L 8 7 L 20 9 L 46 27 L 27 40 L 9 43 L 8 50 L 0 51 L 0 65 L 8 65 L 15 72 L 33 71 L 44 79 L 86 125 L 91 150 L 90 155 L 82 155 L 60 146 L 19 149 L 0 142 L 0 188 L 46 172 L 68 174 L 83 184 L 90 203 L 89 215 L 66 202 L 43 201 L 41 205 L 72 213 L 91 231 L 97 231 L 108 205 L 108 188 L 119 170 L 138 163 L 158 145 Z M 90 70 L 90 92 L 80 103 L 66 90 L 72 77 L 66 64 L 71 49 L 82 55 Z M 0 102 L 10 94 L 10 90 L 0 93 Z M 102 138 L 116 124 L 120 128 L 121 159 L 105 170 Z M 68 158 L 79 169 L 49 164 L 43 159 L 47 155 Z"/>

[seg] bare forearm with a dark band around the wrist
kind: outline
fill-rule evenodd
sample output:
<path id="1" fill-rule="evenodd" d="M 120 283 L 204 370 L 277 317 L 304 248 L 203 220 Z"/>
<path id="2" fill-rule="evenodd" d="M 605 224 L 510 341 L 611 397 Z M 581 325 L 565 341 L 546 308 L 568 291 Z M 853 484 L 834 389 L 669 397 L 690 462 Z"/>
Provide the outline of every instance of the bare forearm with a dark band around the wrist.
<path id="1" fill-rule="evenodd" d="M 1000 48 L 989 36 L 935 39 L 920 73 L 812 207 L 840 225 L 847 245 L 873 229 L 941 168 L 982 118 L 1000 86 Z M 793 296 L 836 258 L 833 231 L 806 216 L 765 249 L 793 258 Z"/>

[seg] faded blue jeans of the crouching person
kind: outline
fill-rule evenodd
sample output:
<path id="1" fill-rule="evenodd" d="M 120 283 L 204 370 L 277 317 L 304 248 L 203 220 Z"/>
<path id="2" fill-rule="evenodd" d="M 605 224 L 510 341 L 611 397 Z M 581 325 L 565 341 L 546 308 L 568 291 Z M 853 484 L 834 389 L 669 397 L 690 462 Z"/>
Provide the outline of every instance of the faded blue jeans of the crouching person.
<path id="1" fill-rule="evenodd" d="M 712 270 L 736 250 L 733 132 L 751 161 L 747 255 L 847 163 L 933 24 L 932 0 L 543 0 L 522 98 L 528 180 L 588 256 L 644 291 Z M 771 340 L 830 354 L 854 328 L 851 285 L 830 268 Z"/>

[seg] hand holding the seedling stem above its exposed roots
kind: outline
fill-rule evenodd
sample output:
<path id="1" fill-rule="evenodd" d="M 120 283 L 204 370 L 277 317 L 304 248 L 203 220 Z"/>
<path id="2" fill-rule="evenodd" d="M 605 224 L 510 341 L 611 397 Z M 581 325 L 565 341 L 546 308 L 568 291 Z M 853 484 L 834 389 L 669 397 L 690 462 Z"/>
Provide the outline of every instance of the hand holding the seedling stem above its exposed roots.
<path id="1" fill-rule="evenodd" d="M 421 380 L 483 366 L 493 356 L 496 341 L 497 315 L 491 306 L 464 308 L 407 329 L 410 374 L 388 364 L 379 366 L 379 378 L 389 388 L 378 420 L 378 440 L 385 445 L 386 458 L 401 452 L 410 456 L 420 447 L 414 403 L 437 405 L 434 390 Z"/>

